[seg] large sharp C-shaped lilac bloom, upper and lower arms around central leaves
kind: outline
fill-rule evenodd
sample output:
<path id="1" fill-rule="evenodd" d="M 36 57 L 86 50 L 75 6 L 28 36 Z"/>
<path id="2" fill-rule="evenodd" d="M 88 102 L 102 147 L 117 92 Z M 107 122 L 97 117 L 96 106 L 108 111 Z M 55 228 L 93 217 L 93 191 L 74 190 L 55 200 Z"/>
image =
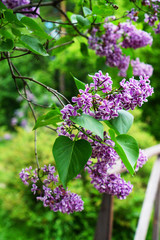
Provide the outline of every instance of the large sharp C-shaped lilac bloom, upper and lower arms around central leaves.
<path id="1" fill-rule="evenodd" d="M 150 86 L 148 77 L 141 76 L 140 80 L 130 78 L 129 81 L 123 79 L 120 82 L 119 90 L 113 90 L 113 82 L 108 73 L 103 75 L 99 71 L 90 77 L 93 82 L 87 84 L 85 90 L 80 89 L 77 97 L 72 98 L 73 105 L 68 104 L 61 110 L 64 122 L 62 126 L 58 127 L 57 133 L 68 136 L 72 140 L 78 137 L 89 141 L 92 155 L 85 169 L 90 174 L 91 183 L 100 192 L 124 199 L 132 191 L 132 185 L 130 182 L 125 182 L 120 175 L 109 173 L 119 158 L 114 150 L 114 142 L 106 132 L 104 132 L 103 142 L 99 136 L 93 135 L 91 131 L 84 128 L 81 128 L 76 134 L 70 117 L 84 112 L 96 119 L 110 120 L 118 116 L 118 110 L 141 106 L 143 102 L 147 101 L 147 97 L 152 95 L 153 88 Z M 136 169 L 141 167 L 145 161 L 146 157 L 140 151 Z"/>

